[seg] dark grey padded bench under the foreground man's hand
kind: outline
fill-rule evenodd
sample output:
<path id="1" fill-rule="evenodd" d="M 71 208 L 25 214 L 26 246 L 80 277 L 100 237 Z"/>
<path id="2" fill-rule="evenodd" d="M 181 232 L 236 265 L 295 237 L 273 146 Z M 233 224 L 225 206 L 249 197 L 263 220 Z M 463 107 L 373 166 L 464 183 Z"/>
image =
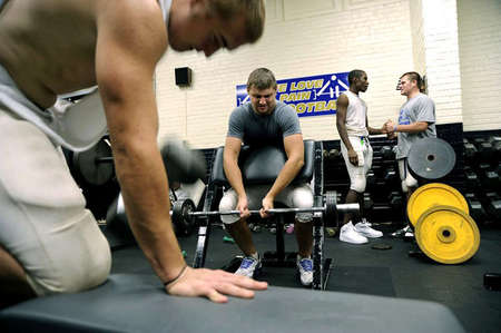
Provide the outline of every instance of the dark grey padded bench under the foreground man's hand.
<path id="1" fill-rule="evenodd" d="M 423 332 L 461 333 L 445 306 L 423 301 L 273 287 L 227 304 L 168 296 L 154 275 L 111 275 L 79 294 L 0 311 L 0 332 Z"/>

